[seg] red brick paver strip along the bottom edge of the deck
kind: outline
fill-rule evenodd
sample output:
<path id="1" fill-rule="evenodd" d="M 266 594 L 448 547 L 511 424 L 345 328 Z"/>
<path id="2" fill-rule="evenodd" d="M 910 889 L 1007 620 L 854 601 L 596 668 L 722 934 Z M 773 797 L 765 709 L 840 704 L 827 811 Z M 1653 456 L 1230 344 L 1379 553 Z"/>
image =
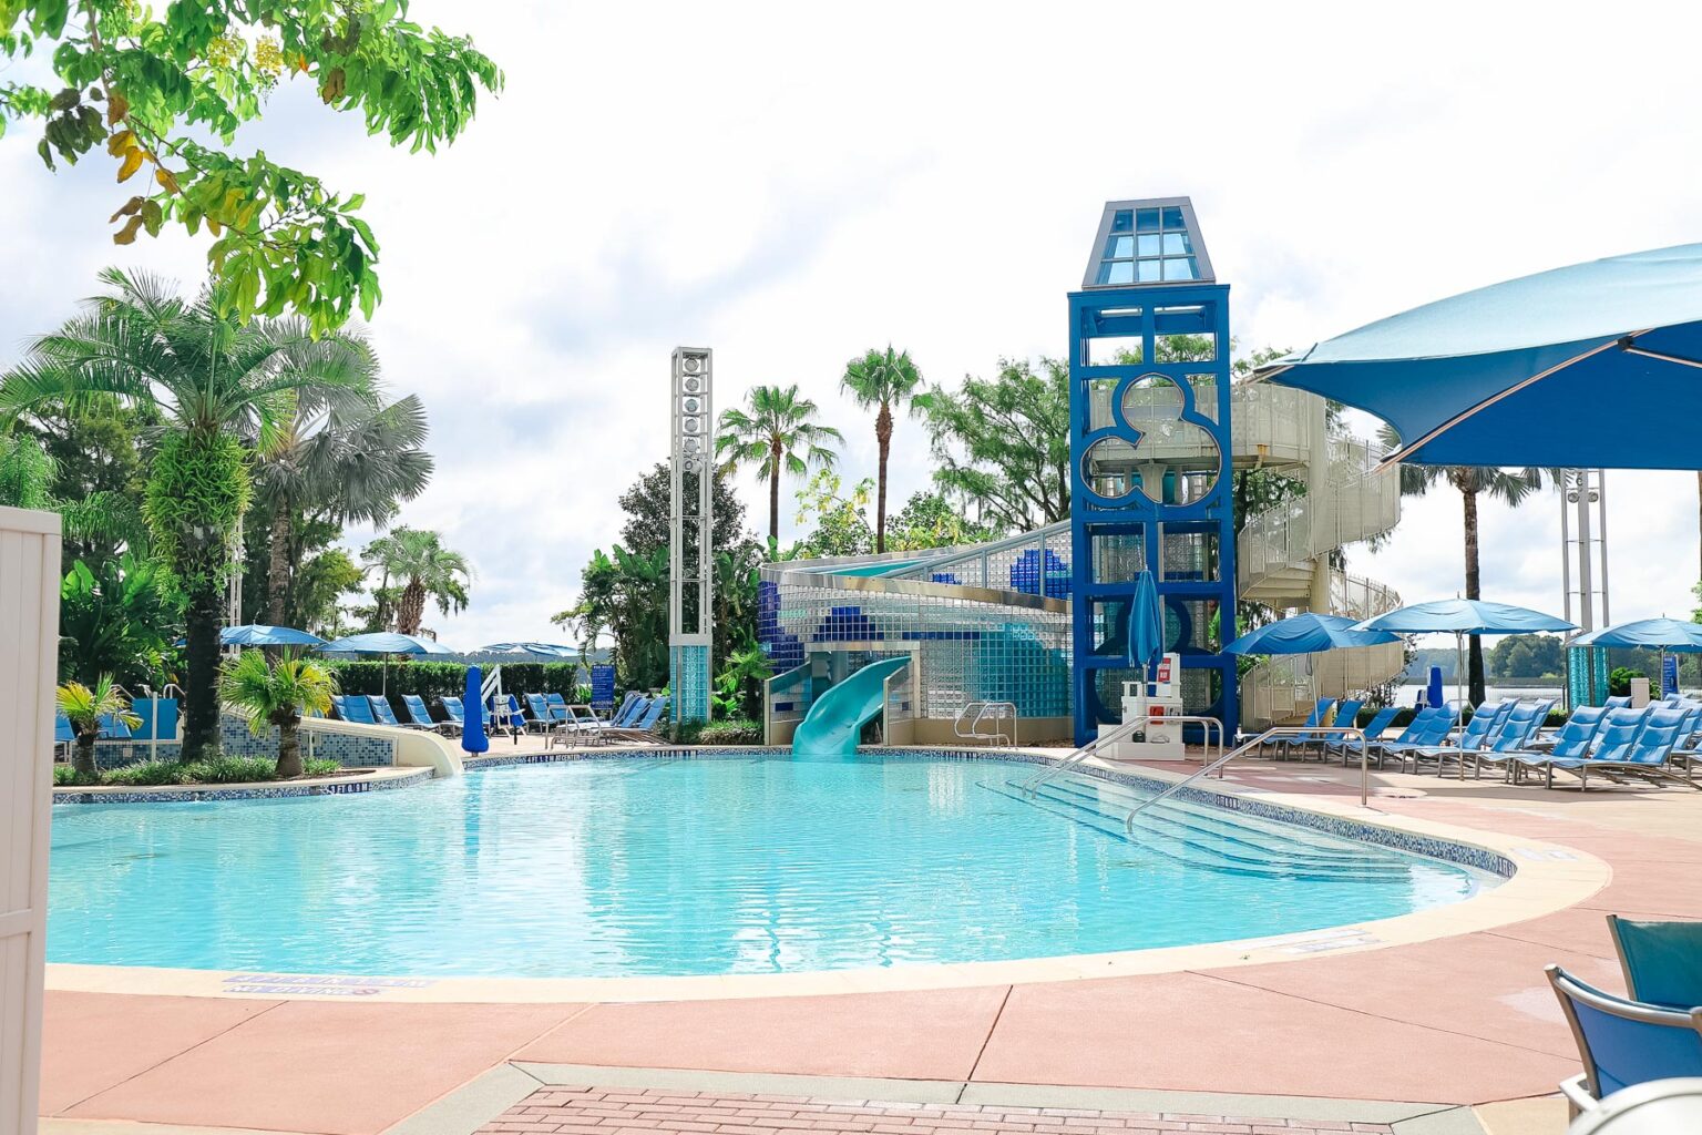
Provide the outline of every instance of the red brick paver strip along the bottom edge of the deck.
<path id="1" fill-rule="evenodd" d="M 478 1135 L 1389 1135 L 1385 1123 L 1321 1123 L 1253 1116 L 914 1104 L 669 1089 L 541 1087 Z"/>

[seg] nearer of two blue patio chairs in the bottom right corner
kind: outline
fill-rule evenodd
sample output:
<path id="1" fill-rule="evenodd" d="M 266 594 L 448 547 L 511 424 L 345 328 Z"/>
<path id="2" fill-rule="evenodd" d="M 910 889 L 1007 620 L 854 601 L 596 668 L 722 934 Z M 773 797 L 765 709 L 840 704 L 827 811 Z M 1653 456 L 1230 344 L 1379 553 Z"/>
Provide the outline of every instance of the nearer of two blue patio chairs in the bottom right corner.
<path id="1" fill-rule="evenodd" d="M 1573 1026 L 1585 1070 L 1561 1082 L 1573 1115 L 1622 1087 L 1702 1075 L 1702 1009 L 1678 1012 L 1585 985 L 1557 965 L 1542 968 Z"/>

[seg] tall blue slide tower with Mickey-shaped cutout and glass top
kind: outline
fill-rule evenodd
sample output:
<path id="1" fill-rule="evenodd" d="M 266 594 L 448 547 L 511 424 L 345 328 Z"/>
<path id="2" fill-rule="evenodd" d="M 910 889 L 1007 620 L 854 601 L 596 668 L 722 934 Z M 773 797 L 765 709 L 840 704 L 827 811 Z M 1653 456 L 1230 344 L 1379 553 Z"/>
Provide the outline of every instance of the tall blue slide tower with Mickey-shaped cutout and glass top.
<path id="1" fill-rule="evenodd" d="M 1234 728 L 1229 286 L 1188 197 L 1110 201 L 1069 296 L 1076 744 L 1122 720 L 1151 568 L 1186 713 Z"/>

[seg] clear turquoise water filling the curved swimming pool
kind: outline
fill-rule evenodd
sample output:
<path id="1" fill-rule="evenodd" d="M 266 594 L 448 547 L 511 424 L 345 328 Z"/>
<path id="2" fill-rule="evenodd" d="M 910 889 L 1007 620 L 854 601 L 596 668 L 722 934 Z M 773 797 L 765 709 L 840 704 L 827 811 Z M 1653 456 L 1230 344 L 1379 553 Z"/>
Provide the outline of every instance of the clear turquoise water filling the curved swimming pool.
<path id="1" fill-rule="evenodd" d="M 398 791 L 54 810 L 53 961 L 771 973 L 1178 946 L 1457 902 L 1476 871 L 1035 766 L 596 759 Z"/>

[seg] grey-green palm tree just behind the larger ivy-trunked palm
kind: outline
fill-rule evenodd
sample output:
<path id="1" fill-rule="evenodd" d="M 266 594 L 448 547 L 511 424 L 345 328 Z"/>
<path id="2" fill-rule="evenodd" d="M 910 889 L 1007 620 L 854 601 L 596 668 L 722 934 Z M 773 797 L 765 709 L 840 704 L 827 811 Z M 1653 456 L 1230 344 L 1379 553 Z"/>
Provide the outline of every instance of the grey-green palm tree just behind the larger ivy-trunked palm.
<path id="1" fill-rule="evenodd" d="M 255 444 L 254 488 L 272 516 L 267 623 L 305 616 L 294 592 L 308 522 L 383 526 L 431 480 L 426 407 L 417 395 L 385 405 L 378 357 L 364 339 L 346 339 L 363 386 L 288 393 Z"/>

